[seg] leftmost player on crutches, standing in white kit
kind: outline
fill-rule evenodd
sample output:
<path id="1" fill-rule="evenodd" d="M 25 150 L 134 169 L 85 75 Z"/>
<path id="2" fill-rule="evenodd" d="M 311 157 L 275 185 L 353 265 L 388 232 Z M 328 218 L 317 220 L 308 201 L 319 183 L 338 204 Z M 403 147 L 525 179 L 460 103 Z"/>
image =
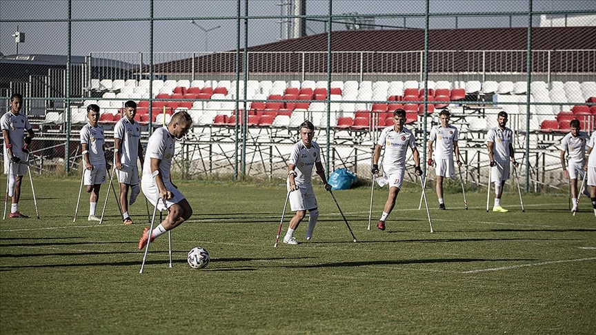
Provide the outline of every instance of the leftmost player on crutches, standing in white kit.
<path id="1" fill-rule="evenodd" d="M 6 174 L 6 202 L 11 198 L 10 219 L 26 219 L 29 216 L 21 214 L 18 210 L 21 198 L 21 183 L 27 171 L 28 148 L 31 139 L 35 136 L 27 116 L 21 114 L 23 96 L 15 93 L 10 97 L 10 111 L 0 118 L 0 128 L 4 137 L 4 174 Z M 25 135 L 27 132 L 27 135 Z M 37 199 L 36 199 L 37 204 Z M 39 214 L 38 214 L 39 216 Z"/>

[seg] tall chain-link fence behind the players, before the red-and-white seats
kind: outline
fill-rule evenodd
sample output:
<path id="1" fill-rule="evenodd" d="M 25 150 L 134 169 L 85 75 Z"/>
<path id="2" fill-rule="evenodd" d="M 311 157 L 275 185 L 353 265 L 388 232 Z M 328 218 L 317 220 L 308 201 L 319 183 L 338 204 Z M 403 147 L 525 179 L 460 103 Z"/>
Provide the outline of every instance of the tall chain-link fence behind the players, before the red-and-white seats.
<path id="1" fill-rule="evenodd" d="M 526 189 L 566 189 L 557 145 L 571 119 L 587 132 L 596 124 L 596 3 L 471 7 L 4 0 L 0 108 L 14 92 L 25 96 L 40 173 L 78 168 L 87 105 L 100 105 L 110 138 L 134 100 L 143 141 L 178 110 L 192 115 L 175 158 L 183 177 L 258 180 L 284 179 L 305 119 L 317 127 L 328 173 L 347 167 L 370 179 L 373 146 L 396 108 L 408 112 L 426 161 L 435 110 L 448 108 L 465 178 L 477 185 L 488 174 L 484 137 L 505 110 Z"/>

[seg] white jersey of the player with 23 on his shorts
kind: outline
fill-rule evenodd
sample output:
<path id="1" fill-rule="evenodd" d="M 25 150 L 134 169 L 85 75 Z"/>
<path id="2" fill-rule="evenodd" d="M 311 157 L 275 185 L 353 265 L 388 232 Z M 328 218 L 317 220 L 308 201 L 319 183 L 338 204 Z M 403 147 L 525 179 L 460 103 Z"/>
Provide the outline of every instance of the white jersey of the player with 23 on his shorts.
<path id="1" fill-rule="evenodd" d="M 385 147 L 383 169 L 386 172 L 391 167 L 405 166 L 408 147 L 416 148 L 414 134 L 405 127 L 401 129 L 401 132 L 395 132 L 393 125 L 381 131 L 377 144 Z"/>

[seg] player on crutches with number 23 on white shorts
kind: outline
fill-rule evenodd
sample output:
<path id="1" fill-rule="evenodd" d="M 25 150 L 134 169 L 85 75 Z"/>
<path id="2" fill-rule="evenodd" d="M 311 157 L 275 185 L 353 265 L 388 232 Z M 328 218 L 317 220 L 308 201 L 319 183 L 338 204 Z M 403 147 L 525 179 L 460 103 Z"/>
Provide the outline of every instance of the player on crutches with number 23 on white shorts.
<path id="1" fill-rule="evenodd" d="M 381 219 L 377 223 L 379 230 L 385 230 L 385 221 L 393 210 L 393 207 L 395 207 L 397 194 L 399 194 L 401 183 L 404 182 L 408 148 L 412 150 L 416 176 L 422 175 L 420 156 L 416 148 L 414 134 L 404 127 L 406 123 L 406 111 L 401 108 L 395 110 L 393 112 L 393 123 L 393 125 L 381 130 L 373 154 L 373 167 L 370 170 L 373 175 L 379 174 L 379 158 L 381 157 L 381 149 L 384 147 L 383 172 L 384 179 L 389 183 L 389 195 Z"/>

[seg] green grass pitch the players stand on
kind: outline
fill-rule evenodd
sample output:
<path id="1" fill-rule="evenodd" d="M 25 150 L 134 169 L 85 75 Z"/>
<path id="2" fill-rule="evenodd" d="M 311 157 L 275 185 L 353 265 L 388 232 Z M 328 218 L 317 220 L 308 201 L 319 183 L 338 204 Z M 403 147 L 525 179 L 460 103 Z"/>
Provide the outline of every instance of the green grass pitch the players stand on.
<path id="1" fill-rule="evenodd" d="M 567 195 L 524 197 L 506 188 L 509 213 L 486 213 L 486 190 L 446 194 L 435 232 L 408 184 L 376 229 L 387 188 L 335 191 L 316 183 L 319 223 L 311 241 L 273 248 L 283 185 L 179 183 L 195 214 L 137 250 L 147 221 L 142 198 L 121 224 L 113 196 L 103 225 L 86 221 L 88 195 L 72 222 L 79 181 L 38 178 L 41 220 L 0 223 L 1 334 L 594 334 L 596 220 L 587 199 L 572 216 Z M 6 179 L 1 179 L 5 185 Z M 106 187 L 102 187 L 103 205 Z M 491 196 L 492 207 L 492 196 Z M 28 183 L 21 212 L 34 216 Z M 286 213 L 282 235 L 292 214 Z M 212 261 L 186 264 L 192 247 Z"/>

